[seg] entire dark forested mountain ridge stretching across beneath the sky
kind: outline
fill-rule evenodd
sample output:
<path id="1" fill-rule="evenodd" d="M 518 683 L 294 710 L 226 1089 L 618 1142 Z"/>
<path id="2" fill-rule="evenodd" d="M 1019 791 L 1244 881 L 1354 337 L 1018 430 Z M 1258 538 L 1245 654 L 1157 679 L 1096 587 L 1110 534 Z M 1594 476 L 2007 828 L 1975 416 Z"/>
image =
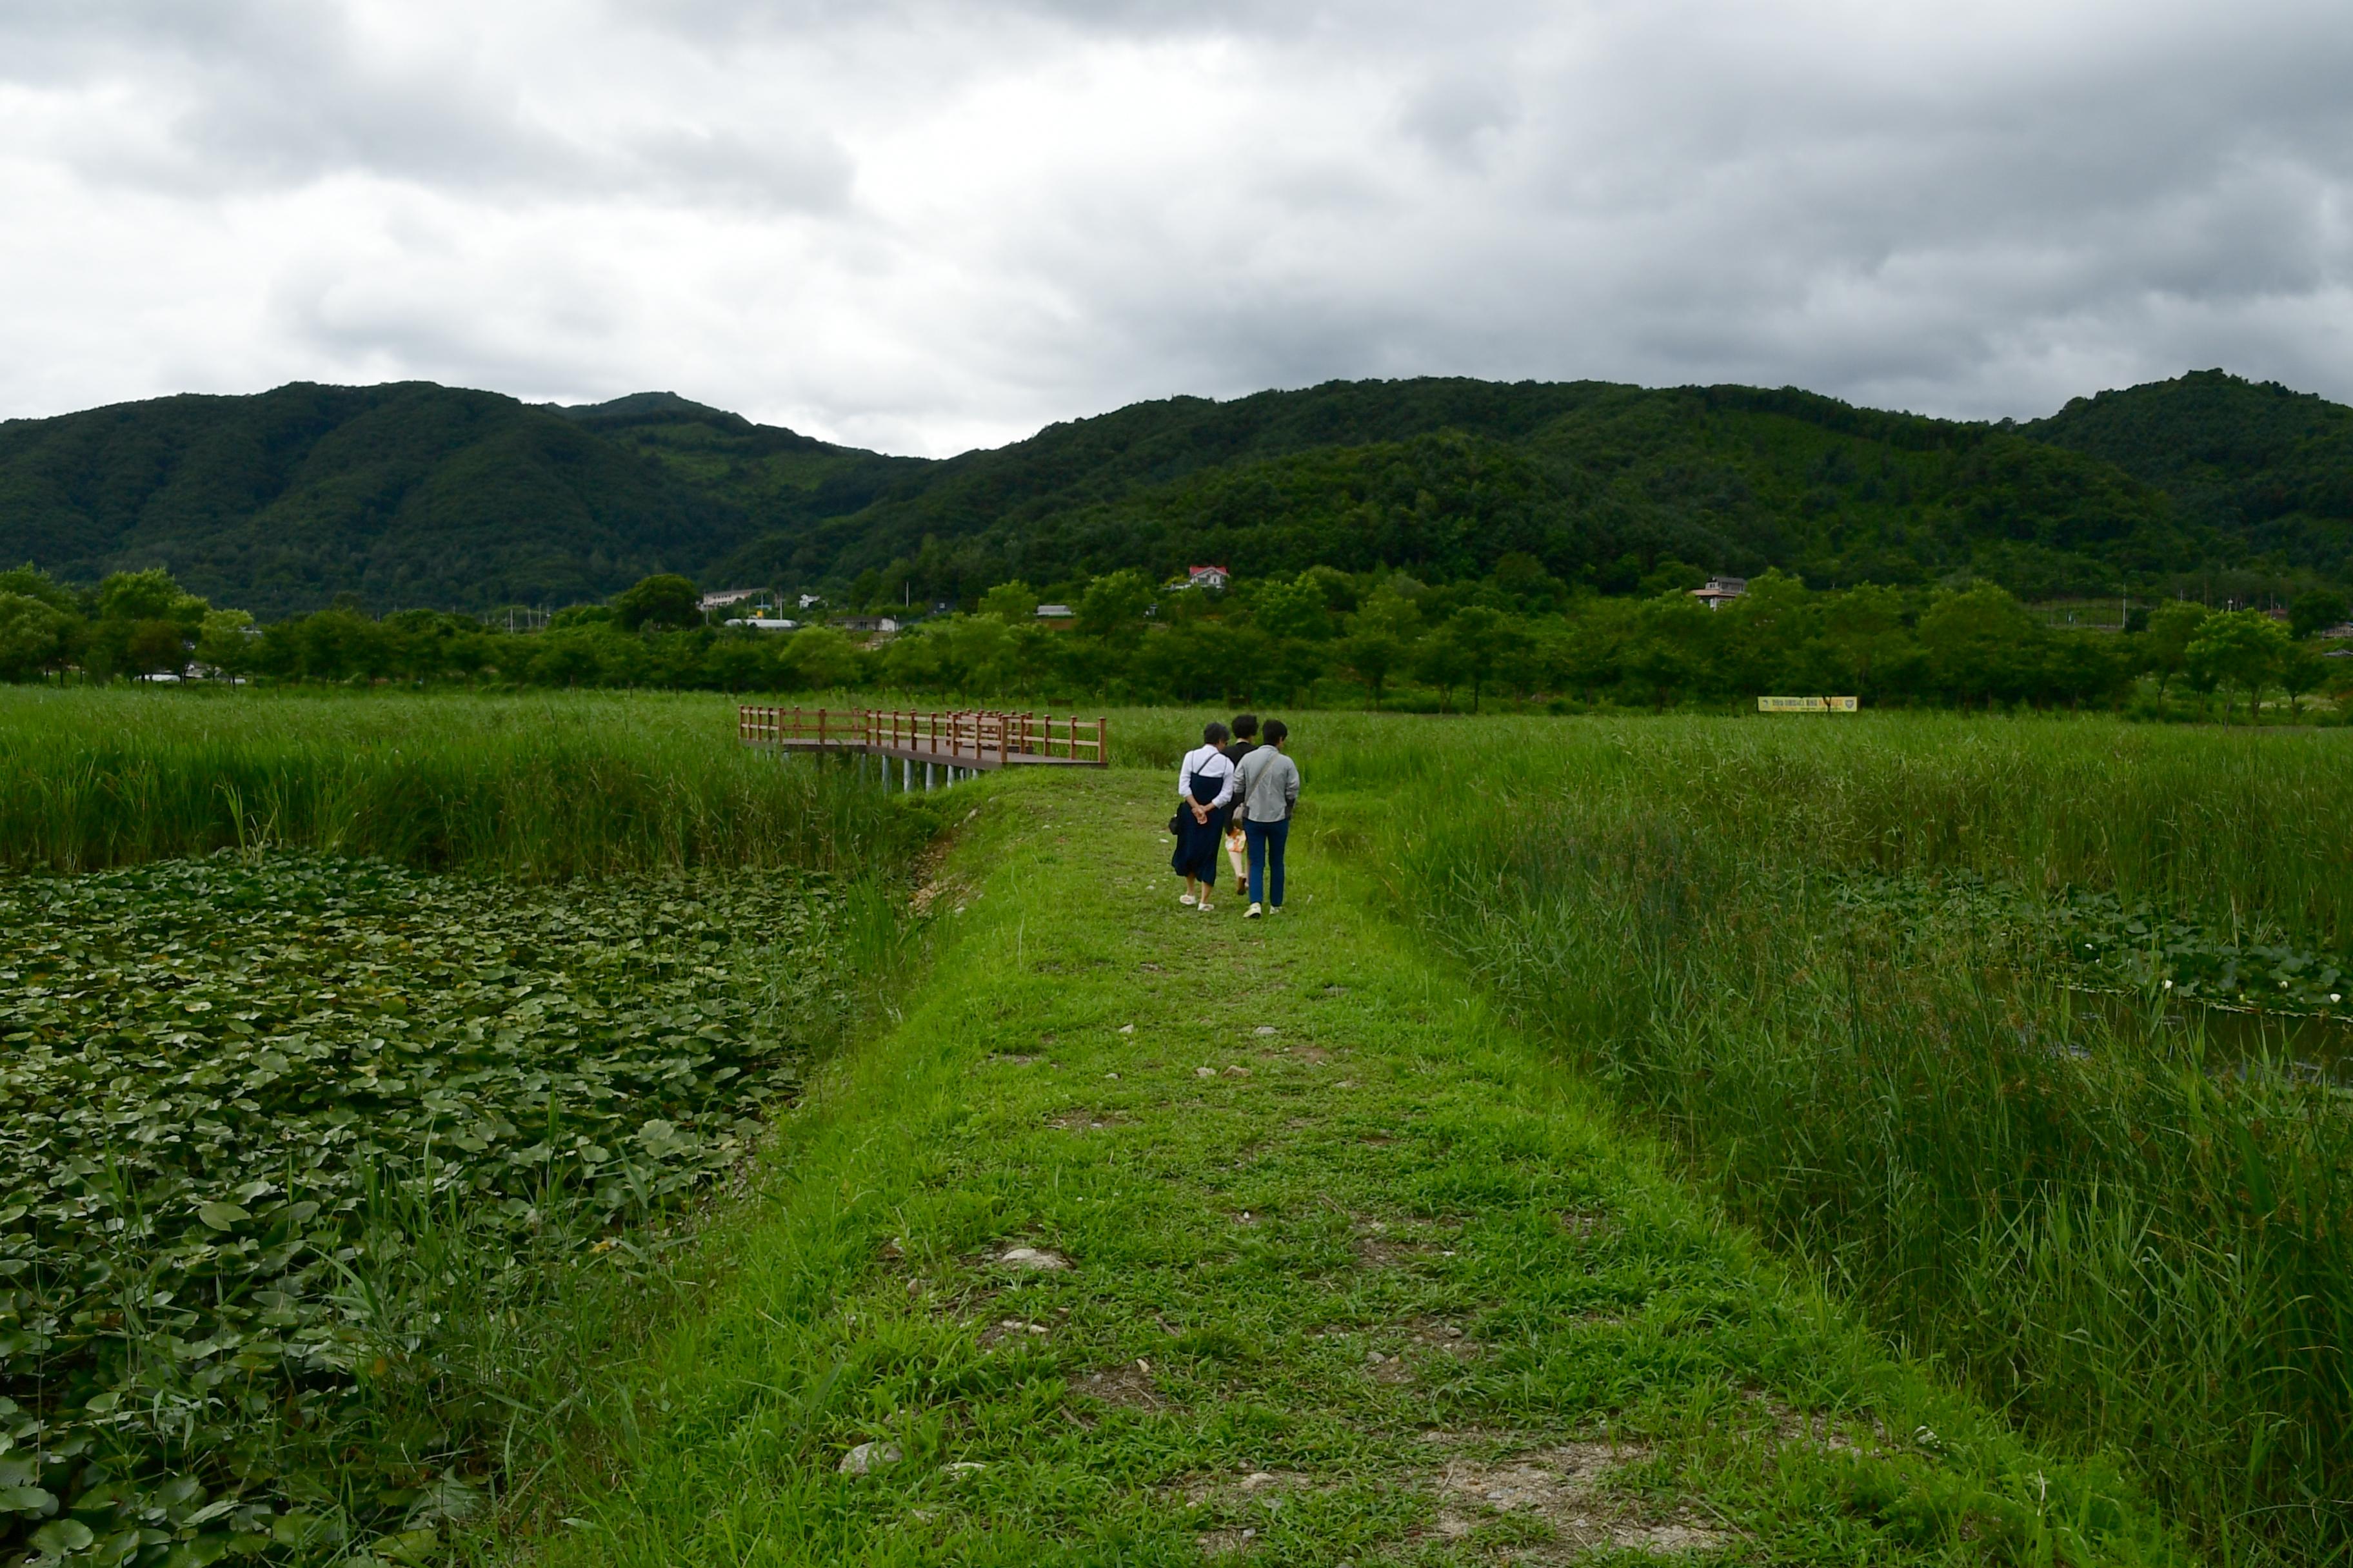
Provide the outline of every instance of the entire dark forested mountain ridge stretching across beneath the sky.
<path id="1" fill-rule="evenodd" d="M 1219 559 L 1605 592 L 1661 562 L 2028 597 L 2353 578 L 2353 409 L 2224 371 L 2026 425 L 1795 388 L 1337 381 L 1169 397 L 925 461 L 678 393 L 292 383 L 0 423 L 0 559 L 169 567 L 264 616 L 600 599 L 649 571 L 965 599 Z M 866 576 L 861 576 L 866 574 Z M 896 592 L 894 592 L 896 597 Z"/>

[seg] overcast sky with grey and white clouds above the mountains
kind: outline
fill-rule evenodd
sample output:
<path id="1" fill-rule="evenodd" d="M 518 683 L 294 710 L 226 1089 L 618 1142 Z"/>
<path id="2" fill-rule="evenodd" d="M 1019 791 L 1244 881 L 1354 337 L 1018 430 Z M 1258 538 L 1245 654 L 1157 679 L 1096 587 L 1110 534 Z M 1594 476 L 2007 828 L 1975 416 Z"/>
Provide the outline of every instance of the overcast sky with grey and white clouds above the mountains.
<path id="1" fill-rule="evenodd" d="M 2353 402 L 2353 5 L 0 0 L 0 416 L 946 454 L 1334 376 Z"/>

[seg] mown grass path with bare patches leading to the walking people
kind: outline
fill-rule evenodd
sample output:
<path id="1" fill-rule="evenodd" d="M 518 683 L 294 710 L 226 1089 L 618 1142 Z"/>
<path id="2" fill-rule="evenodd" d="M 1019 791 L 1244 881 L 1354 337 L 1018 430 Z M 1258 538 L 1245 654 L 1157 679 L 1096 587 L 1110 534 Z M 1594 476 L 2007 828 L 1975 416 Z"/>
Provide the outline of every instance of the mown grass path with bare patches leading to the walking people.
<path id="1" fill-rule="evenodd" d="M 953 797 L 929 976 L 605 1368 L 541 1556 L 2174 1561 L 1417 957 L 1346 802 L 1245 924 L 1176 905 L 1160 790 Z"/>

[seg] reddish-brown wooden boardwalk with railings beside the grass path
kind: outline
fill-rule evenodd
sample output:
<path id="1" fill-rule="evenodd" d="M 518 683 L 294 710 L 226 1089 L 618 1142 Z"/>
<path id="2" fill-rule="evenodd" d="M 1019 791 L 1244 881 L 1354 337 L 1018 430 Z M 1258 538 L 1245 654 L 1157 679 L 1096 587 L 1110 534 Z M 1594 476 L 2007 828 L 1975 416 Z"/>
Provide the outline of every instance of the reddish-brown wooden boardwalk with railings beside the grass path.
<path id="1" fill-rule="evenodd" d="M 849 752 L 882 759 L 882 780 L 899 762 L 899 788 L 944 783 L 995 769 L 1101 769 L 1111 766 L 1108 719 L 1056 719 L 1042 712 L 911 712 L 899 708 L 736 708 L 736 741 L 786 752 Z"/>

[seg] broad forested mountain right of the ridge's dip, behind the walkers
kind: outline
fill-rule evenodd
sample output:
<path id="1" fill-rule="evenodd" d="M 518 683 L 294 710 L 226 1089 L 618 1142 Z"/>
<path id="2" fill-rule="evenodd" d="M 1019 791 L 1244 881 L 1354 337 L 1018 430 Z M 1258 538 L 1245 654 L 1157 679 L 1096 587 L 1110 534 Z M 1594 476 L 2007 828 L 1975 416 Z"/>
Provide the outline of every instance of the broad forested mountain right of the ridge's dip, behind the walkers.
<path id="1" fill-rule="evenodd" d="M 2165 496 L 2111 463 L 1807 393 L 1409 381 L 1202 407 L 1217 416 L 1141 404 L 953 458 L 734 564 L 807 576 L 899 559 L 918 590 L 962 595 L 1188 559 L 1445 581 L 1527 552 L 1617 592 L 1680 562 L 1824 583 L 1977 571 L 2047 597 L 2200 559 Z M 1209 440 L 1186 440 L 1195 418 Z"/>

